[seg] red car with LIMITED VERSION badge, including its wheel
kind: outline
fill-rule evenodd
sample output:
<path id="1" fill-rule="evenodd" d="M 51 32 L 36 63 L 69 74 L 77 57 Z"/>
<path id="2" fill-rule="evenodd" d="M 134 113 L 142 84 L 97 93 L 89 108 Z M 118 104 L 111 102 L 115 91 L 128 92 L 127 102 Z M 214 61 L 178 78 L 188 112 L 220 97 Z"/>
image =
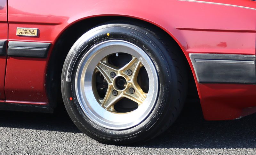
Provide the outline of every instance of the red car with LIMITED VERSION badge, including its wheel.
<path id="1" fill-rule="evenodd" d="M 1 0 L 0 109 L 53 112 L 101 143 L 152 139 L 199 97 L 256 112 L 252 0 Z M 62 103 L 61 103 L 62 102 Z"/>

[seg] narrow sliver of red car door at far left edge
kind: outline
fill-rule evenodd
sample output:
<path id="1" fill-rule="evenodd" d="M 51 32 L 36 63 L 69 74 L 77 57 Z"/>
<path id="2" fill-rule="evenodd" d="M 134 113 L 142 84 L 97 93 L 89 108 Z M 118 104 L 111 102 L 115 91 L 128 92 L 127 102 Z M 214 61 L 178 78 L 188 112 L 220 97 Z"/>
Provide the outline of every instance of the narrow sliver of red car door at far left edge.
<path id="1" fill-rule="evenodd" d="M 0 30 L 0 99 L 5 99 L 4 79 L 6 67 L 6 44 L 8 40 L 7 0 L 0 0 Z"/>

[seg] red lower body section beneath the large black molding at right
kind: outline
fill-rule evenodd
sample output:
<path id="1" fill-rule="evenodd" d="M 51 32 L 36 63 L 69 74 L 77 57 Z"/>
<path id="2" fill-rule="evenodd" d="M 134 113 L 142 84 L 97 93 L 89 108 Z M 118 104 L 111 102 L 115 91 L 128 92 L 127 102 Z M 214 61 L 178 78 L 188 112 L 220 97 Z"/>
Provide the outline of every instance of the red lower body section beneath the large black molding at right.
<path id="1" fill-rule="evenodd" d="M 197 84 L 206 120 L 229 120 L 255 112 L 255 85 Z M 251 109 L 248 107 L 251 107 Z M 249 113 L 246 113 L 248 111 Z"/>

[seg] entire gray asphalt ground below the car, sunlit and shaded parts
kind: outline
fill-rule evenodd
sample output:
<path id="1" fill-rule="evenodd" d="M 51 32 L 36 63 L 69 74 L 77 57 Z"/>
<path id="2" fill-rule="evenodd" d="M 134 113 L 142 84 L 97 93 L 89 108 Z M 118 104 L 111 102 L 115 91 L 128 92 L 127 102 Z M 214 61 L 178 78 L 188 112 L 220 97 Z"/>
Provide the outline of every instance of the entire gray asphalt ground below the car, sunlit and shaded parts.
<path id="1" fill-rule="evenodd" d="M 68 114 L 0 111 L 0 154 L 256 154 L 256 114 L 205 121 L 198 104 L 184 108 L 157 138 L 134 146 L 100 144 Z"/>

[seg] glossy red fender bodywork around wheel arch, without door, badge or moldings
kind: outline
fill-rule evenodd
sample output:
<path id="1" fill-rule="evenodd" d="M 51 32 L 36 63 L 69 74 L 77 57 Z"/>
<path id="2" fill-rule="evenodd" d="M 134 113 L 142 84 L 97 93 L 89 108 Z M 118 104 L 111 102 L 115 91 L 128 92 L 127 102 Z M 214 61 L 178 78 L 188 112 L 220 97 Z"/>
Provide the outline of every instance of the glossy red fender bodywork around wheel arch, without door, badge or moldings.
<path id="1" fill-rule="evenodd" d="M 177 41 L 195 80 L 189 53 L 255 55 L 256 3 L 249 0 L 8 0 L 8 4 L 9 41 L 50 42 L 52 47 L 70 25 L 87 18 L 124 16 L 152 23 Z M 39 36 L 17 36 L 17 27 L 38 28 Z M 45 76 L 50 56 L 51 50 L 47 59 L 8 57 L 6 100 L 48 102 Z M 256 85 L 196 81 L 196 86 L 207 120 L 238 118 L 253 111 L 247 107 L 256 106 Z"/>

